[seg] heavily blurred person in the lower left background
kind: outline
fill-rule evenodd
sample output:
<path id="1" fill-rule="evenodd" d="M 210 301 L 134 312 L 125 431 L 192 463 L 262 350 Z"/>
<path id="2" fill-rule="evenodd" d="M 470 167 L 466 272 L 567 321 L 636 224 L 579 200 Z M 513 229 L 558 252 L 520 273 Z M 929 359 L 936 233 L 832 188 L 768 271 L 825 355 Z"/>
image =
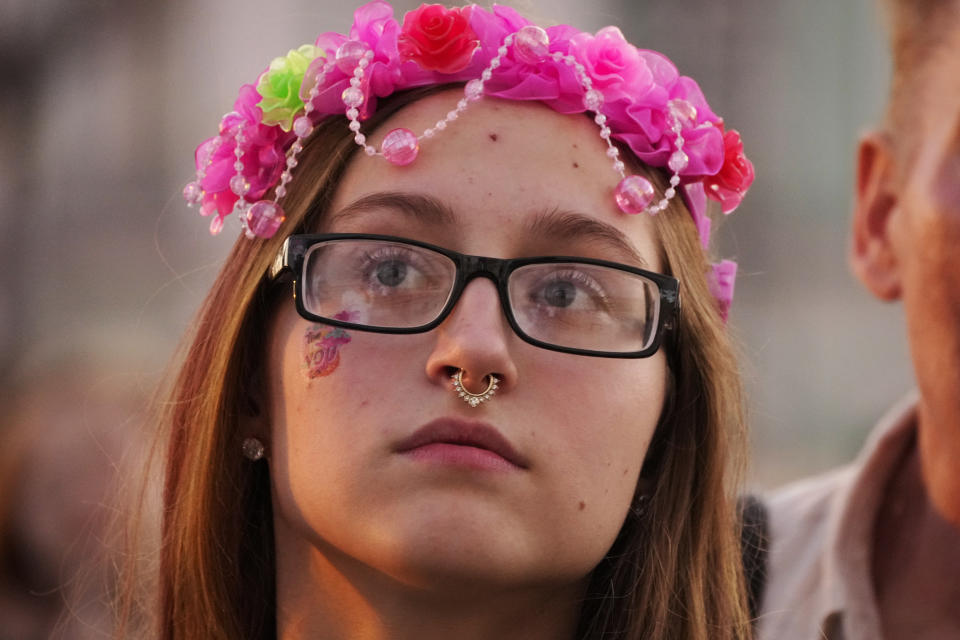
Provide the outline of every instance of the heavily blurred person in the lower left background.
<path id="1" fill-rule="evenodd" d="M 137 468 L 144 390 L 105 369 L 68 356 L 5 390 L 0 640 L 110 633 L 113 489 Z"/>

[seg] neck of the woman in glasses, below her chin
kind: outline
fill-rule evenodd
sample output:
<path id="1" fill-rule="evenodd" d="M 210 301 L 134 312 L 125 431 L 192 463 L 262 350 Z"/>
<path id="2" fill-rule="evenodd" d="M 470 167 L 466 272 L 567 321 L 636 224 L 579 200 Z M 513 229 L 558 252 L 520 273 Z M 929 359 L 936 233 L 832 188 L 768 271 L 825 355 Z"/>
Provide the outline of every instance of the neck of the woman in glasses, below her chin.
<path id="1" fill-rule="evenodd" d="M 573 638 L 581 596 L 582 585 L 411 584 L 329 548 L 278 545 L 279 640 Z"/>

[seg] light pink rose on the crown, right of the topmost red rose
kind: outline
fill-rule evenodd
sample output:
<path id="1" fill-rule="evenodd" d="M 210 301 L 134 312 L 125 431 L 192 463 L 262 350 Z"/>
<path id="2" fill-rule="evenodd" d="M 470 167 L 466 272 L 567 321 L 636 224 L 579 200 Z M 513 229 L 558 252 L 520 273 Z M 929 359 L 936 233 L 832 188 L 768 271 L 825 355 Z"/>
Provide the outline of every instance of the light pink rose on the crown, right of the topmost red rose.
<path id="1" fill-rule="evenodd" d="M 595 36 L 577 34 L 570 49 L 608 102 L 635 99 L 653 84 L 646 60 L 617 27 L 604 27 Z"/>

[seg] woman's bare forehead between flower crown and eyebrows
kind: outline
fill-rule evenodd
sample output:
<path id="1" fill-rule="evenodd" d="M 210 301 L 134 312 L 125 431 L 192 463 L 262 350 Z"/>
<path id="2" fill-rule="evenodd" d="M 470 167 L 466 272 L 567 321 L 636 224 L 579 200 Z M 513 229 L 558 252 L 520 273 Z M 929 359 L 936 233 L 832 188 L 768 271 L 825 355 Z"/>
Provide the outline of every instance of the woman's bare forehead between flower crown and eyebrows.
<path id="1" fill-rule="evenodd" d="M 404 108 L 368 134 L 371 144 L 378 147 L 394 128 L 419 134 L 435 126 L 461 96 L 461 90 L 443 91 Z M 515 245 L 525 240 L 522 233 L 533 217 L 573 213 L 615 227 L 652 264 L 653 224 L 646 215 L 619 211 L 613 199 L 619 179 L 588 117 L 560 114 L 538 102 L 485 98 L 471 103 L 446 130 L 421 140 L 410 165 L 355 154 L 331 209 L 378 192 L 429 196 L 450 210 L 455 227 L 448 237 L 433 239 L 450 248 L 490 251 L 487 255 L 522 250 Z M 349 218 L 337 220 L 337 231 L 351 230 L 344 226 Z M 476 246 L 478 238 L 490 248 Z"/>

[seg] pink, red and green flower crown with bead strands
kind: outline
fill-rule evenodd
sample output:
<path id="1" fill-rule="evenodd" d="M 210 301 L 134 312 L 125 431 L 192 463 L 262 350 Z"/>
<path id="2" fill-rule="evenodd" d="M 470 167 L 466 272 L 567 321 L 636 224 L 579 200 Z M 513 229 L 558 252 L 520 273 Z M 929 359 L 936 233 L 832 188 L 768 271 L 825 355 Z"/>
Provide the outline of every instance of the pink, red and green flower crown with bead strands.
<path id="1" fill-rule="evenodd" d="M 380 149 L 367 144 L 361 123 L 376 110 L 377 98 L 458 82 L 465 83 L 464 96 L 434 126 L 420 135 L 393 129 Z M 710 236 L 706 199 L 730 213 L 753 182 L 739 133 L 725 130 L 697 83 L 680 76 L 666 56 L 628 43 L 616 27 L 595 35 L 568 25 L 543 29 L 497 5 L 422 5 L 401 24 L 387 2 L 376 0 L 357 9 L 349 34 L 321 34 L 314 44 L 273 60 L 256 86 L 240 88 L 219 134 L 197 147 L 197 178 L 184 197 L 212 216 L 214 234 L 236 211 L 248 237 L 269 238 L 284 221 L 279 202 L 297 156 L 321 119 L 345 115 L 367 155 L 405 165 L 422 142 L 483 96 L 592 113 L 620 177 L 614 192 L 619 208 L 655 215 L 682 193 L 704 247 Z M 614 141 L 646 165 L 670 172 L 661 198 L 647 178 L 626 174 Z M 723 261 L 711 275 L 724 315 L 735 271 L 735 263 Z"/>

